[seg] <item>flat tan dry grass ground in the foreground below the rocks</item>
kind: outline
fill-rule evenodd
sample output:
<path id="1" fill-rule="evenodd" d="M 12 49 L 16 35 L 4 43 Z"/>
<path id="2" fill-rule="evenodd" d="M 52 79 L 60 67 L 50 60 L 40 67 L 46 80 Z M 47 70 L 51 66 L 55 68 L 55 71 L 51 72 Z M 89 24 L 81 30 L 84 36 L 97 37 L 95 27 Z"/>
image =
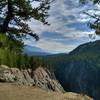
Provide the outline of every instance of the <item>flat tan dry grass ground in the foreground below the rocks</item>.
<path id="1" fill-rule="evenodd" d="M 0 83 L 0 100 L 92 100 L 75 93 L 47 92 L 36 87 Z"/>

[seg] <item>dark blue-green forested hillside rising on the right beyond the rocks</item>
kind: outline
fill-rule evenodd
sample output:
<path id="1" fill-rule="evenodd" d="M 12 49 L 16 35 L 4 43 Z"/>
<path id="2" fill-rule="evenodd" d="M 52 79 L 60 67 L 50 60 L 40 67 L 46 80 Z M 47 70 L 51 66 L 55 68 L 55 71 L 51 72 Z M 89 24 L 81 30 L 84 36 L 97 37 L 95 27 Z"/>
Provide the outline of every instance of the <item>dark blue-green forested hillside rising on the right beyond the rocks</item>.
<path id="1" fill-rule="evenodd" d="M 48 56 L 45 61 L 53 66 L 66 91 L 100 100 L 100 40 L 80 45 L 69 54 Z"/>

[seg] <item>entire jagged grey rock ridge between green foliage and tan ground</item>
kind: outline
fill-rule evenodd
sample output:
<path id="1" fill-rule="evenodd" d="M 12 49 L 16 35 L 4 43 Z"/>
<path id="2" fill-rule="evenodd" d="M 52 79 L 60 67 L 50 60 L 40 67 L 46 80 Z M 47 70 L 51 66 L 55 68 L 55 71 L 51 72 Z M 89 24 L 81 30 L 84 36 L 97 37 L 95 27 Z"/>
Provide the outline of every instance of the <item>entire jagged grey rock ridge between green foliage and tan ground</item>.
<path id="1" fill-rule="evenodd" d="M 0 82 L 9 82 L 37 86 L 45 90 L 64 92 L 59 82 L 52 78 L 49 71 L 38 67 L 35 71 L 31 69 L 19 70 L 18 68 L 9 68 L 0 66 Z"/>

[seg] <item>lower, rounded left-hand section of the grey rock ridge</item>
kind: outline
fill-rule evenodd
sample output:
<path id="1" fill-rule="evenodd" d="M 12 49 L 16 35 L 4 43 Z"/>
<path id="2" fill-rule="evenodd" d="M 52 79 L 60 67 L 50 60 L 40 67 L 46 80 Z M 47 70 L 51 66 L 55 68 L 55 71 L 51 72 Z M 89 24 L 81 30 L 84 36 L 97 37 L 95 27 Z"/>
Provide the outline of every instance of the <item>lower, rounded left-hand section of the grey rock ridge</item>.
<path id="1" fill-rule="evenodd" d="M 27 70 L 9 68 L 5 65 L 0 66 L 0 81 L 13 82 L 17 84 L 33 85 L 34 80 L 29 76 Z"/>

